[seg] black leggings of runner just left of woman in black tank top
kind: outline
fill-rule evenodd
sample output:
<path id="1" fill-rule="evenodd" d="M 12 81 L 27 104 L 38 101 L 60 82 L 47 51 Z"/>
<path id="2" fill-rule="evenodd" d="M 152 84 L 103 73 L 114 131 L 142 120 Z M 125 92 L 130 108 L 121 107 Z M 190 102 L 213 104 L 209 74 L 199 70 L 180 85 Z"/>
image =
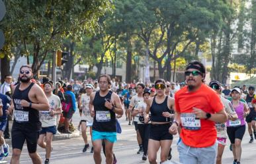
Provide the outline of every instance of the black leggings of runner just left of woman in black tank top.
<path id="1" fill-rule="evenodd" d="M 138 130 L 142 138 L 142 146 L 144 155 L 148 154 L 148 136 L 149 136 L 149 126 L 150 124 L 138 124 Z"/>

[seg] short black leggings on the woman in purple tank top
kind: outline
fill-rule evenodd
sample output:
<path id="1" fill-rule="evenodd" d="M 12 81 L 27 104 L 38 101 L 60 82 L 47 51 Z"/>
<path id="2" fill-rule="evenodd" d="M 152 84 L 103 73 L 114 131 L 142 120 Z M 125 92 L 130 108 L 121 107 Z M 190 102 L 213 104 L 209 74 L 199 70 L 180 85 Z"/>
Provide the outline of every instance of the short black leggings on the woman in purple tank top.
<path id="1" fill-rule="evenodd" d="M 241 126 L 228 126 L 227 127 L 228 138 L 230 138 L 231 144 L 235 144 L 235 138 L 240 140 L 243 139 L 243 135 L 245 134 L 245 124 Z"/>

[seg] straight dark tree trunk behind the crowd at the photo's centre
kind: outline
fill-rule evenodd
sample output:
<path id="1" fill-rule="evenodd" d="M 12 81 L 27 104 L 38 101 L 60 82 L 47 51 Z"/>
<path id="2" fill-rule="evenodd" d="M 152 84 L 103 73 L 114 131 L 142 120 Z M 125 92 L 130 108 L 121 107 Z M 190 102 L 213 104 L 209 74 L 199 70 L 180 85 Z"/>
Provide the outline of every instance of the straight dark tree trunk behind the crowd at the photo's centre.
<path id="1" fill-rule="evenodd" d="M 127 38 L 127 47 L 126 47 L 126 82 L 132 81 L 132 44 L 130 42 L 130 36 Z"/>

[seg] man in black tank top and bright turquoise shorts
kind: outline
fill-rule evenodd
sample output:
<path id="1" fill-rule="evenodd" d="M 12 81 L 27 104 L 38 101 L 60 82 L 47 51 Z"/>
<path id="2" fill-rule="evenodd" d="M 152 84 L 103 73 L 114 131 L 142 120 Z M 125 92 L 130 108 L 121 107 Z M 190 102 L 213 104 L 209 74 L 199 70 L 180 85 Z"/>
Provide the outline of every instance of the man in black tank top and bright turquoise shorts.
<path id="1" fill-rule="evenodd" d="M 112 149 L 116 142 L 116 114 L 124 113 L 118 95 L 108 90 L 110 86 L 110 77 L 103 74 L 99 77 L 100 90 L 90 96 L 89 109 L 93 117 L 93 158 L 96 164 L 101 163 L 103 142 L 105 142 L 106 163 L 113 163 Z"/>

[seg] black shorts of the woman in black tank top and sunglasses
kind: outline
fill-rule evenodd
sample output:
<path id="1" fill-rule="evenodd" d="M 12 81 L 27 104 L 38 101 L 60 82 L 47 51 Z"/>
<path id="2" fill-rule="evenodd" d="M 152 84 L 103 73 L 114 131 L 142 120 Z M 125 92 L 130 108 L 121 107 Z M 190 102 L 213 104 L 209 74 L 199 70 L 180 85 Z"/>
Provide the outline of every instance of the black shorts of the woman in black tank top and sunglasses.
<path id="1" fill-rule="evenodd" d="M 173 135 L 169 134 L 171 124 L 151 124 L 149 128 L 149 139 L 152 140 L 173 140 Z"/>

